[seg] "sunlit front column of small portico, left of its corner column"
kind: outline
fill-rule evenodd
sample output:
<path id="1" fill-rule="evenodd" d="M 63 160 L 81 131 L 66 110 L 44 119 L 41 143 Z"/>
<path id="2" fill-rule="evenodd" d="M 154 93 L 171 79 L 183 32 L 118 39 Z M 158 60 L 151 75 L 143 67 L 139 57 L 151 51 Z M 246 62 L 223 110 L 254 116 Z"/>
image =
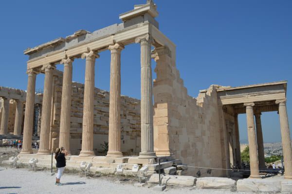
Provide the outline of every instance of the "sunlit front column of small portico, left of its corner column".
<path id="1" fill-rule="evenodd" d="M 254 103 L 245 103 L 246 106 L 246 121 L 247 121 L 247 135 L 248 146 L 250 154 L 251 176 L 250 178 L 260 178 L 258 169 L 257 145 L 256 145 L 256 129 L 254 120 Z"/>

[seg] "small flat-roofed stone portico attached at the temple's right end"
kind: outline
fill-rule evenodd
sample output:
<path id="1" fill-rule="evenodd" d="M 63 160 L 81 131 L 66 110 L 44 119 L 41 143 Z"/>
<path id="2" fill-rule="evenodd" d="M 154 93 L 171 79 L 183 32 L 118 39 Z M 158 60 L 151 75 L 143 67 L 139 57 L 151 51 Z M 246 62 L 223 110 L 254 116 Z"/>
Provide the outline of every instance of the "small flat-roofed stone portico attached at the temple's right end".
<path id="1" fill-rule="evenodd" d="M 286 93 L 287 81 L 217 89 L 225 143 L 226 167 L 240 159 L 238 114 L 246 114 L 248 145 L 252 178 L 259 178 L 259 169 L 265 169 L 261 113 L 277 111 L 280 120 L 285 178 L 292 178 L 292 147 L 288 123 Z M 256 122 L 255 122 L 256 120 Z M 240 163 L 239 163 L 240 164 Z"/>

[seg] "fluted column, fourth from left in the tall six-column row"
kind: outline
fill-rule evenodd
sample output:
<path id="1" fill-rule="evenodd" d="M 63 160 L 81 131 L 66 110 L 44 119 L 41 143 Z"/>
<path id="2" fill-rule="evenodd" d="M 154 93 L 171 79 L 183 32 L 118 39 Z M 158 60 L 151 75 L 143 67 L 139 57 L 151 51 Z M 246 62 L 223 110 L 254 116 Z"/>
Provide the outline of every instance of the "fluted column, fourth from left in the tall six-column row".
<path id="1" fill-rule="evenodd" d="M 94 109 L 94 64 L 99 55 L 93 51 L 83 53 L 81 58 L 86 58 L 84 103 L 83 103 L 83 128 L 82 148 L 79 156 L 94 156 L 93 152 L 93 109 Z"/>

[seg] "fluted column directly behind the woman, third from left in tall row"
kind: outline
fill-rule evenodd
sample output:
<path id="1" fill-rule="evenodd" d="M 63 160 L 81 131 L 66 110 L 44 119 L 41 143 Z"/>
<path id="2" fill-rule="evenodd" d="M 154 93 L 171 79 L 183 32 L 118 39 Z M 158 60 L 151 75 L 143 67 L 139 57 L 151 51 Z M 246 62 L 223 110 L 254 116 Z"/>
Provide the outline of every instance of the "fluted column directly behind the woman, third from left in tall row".
<path id="1" fill-rule="evenodd" d="M 61 100 L 60 140 L 59 147 L 64 147 L 70 154 L 70 117 L 72 90 L 72 62 L 70 58 L 62 59 L 64 64 L 63 87 Z"/>

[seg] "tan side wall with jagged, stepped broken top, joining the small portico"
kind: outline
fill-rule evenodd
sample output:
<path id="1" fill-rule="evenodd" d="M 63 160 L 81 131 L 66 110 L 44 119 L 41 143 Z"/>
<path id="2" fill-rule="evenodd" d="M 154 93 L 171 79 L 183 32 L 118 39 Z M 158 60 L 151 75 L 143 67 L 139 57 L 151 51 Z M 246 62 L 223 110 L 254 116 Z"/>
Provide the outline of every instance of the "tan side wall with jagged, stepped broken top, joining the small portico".
<path id="1" fill-rule="evenodd" d="M 175 50 L 156 48 L 157 79 L 154 80 L 154 149 L 159 156 L 174 155 L 191 166 L 222 168 L 219 113 L 216 88 L 198 98 L 187 94 L 176 69 Z M 195 176 L 198 168 L 188 168 Z M 224 176 L 225 171 L 200 169 L 201 176 Z"/>

